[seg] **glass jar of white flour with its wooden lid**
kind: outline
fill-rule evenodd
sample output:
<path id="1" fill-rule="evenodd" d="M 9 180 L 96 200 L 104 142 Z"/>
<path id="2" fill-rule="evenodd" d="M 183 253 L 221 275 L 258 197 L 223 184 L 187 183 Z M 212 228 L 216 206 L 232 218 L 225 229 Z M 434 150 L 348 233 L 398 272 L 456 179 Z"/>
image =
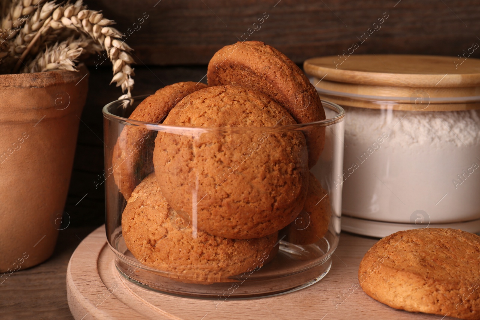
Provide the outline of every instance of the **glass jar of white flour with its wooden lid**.
<path id="1" fill-rule="evenodd" d="M 480 59 L 347 54 L 304 69 L 346 112 L 343 230 L 480 232 Z"/>

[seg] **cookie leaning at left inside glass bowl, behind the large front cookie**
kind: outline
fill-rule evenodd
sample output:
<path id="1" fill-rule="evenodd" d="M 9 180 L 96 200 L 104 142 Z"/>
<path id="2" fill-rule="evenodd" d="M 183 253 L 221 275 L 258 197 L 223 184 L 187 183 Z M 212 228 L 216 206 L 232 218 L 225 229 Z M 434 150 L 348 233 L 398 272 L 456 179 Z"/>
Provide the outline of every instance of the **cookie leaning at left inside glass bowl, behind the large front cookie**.
<path id="1" fill-rule="evenodd" d="M 159 123 L 181 99 L 206 87 L 204 83 L 194 82 L 167 85 L 145 98 L 128 119 Z M 154 170 L 152 150 L 155 136 L 155 131 L 126 126 L 113 148 L 113 178 L 127 200 L 136 185 Z"/>

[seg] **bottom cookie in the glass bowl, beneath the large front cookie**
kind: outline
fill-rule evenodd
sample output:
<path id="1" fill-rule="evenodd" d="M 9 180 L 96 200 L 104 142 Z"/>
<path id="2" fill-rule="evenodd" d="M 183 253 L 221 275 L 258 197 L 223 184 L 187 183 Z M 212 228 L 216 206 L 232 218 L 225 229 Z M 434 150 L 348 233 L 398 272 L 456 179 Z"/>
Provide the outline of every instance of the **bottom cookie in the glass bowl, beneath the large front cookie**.
<path id="1" fill-rule="evenodd" d="M 133 256 L 182 282 L 228 282 L 226 277 L 258 270 L 277 242 L 277 233 L 248 240 L 201 230 L 195 236 L 192 226 L 168 205 L 153 173 L 135 188 L 122 213 L 122 235 Z"/>

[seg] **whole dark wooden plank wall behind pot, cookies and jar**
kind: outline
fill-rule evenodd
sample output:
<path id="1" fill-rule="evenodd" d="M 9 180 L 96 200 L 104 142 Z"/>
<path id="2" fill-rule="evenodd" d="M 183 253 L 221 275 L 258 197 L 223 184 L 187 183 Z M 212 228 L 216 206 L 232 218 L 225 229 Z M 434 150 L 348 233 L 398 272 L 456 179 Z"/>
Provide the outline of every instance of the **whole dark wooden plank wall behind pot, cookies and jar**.
<path id="1" fill-rule="evenodd" d="M 359 53 L 416 53 L 457 56 L 480 44 L 480 1 L 466 0 L 85 0 L 103 10 L 135 49 L 134 94 L 152 93 L 165 84 L 200 81 L 219 48 L 238 41 L 258 18 L 268 18 L 247 40 L 261 40 L 297 63 L 337 55 L 359 44 Z M 381 29 L 364 43 L 357 37 L 384 15 Z M 144 15 L 143 24 L 138 19 Z M 258 27 L 256 27 L 258 29 Z M 377 27 L 378 28 L 378 27 Z M 244 36 L 245 38 L 245 36 Z M 480 57 L 480 49 L 472 54 Z M 111 66 L 96 69 L 89 60 L 87 102 L 80 123 L 77 151 L 65 212 L 71 226 L 104 222 L 104 189 L 96 187 L 103 170 L 101 109 L 120 95 L 108 86 Z M 453 60 L 452 60 L 453 63 Z M 203 80 L 205 82 L 205 79 Z"/>

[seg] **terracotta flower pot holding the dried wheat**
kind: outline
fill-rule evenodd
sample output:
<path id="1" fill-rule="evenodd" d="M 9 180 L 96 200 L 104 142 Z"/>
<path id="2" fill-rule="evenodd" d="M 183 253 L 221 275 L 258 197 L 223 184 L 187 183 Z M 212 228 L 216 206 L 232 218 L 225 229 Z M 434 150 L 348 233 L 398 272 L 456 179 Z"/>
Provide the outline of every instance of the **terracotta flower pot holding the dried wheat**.
<path id="1" fill-rule="evenodd" d="M 0 75 L 0 283 L 52 254 L 88 71 Z"/>

